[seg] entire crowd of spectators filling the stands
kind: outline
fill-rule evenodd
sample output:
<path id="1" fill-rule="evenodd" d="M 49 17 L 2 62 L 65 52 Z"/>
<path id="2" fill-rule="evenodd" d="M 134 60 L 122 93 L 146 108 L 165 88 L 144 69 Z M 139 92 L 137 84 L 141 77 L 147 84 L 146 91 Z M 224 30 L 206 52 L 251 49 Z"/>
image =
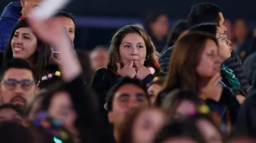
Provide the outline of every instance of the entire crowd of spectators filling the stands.
<path id="1" fill-rule="evenodd" d="M 0 19 L 1 142 L 256 142 L 256 40 L 242 29 L 233 42 L 217 5 L 193 5 L 169 36 L 150 13 L 86 53 L 68 12 L 29 16 L 39 2 Z"/>

